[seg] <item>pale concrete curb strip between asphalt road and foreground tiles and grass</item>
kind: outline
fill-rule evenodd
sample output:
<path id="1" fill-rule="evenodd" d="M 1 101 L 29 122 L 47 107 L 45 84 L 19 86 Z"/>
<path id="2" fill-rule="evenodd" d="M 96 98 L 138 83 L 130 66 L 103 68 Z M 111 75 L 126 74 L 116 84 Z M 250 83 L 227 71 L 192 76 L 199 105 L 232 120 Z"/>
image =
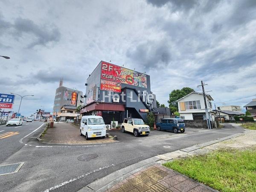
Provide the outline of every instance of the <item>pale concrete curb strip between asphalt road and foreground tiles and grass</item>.
<path id="1" fill-rule="evenodd" d="M 157 155 L 157 156 L 139 161 L 138 163 L 134 163 L 130 166 L 119 169 L 105 177 L 102 177 L 98 180 L 93 181 L 92 183 L 88 184 L 87 186 L 84 186 L 78 192 L 93 192 L 93 191 L 105 192 L 112 186 L 116 185 L 117 183 L 119 183 L 122 180 L 125 180 L 127 177 L 131 176 L 131 174 L 139 172 L 140 170 L 145 169 L 148 166 L 151 166 L 154 164 L 162 164 L 168 160 L 177 158 L 180 155 L 189 154 L 191 151 L 195 151 L 200 148 L 203 148 L 203 147 L 206 147 L 206 146 L 209 146 L 209 145 L 212 145 L 212 144 L 224 141 L 224 140 L 239 137 L 241 135 L 247 134 L 248 132 L 249 132 L 249 130 L 246 130 L 239 134 L 233 134 L 233 135 L 230 135 L 227 137 L 219 138 L 217 140 L 212 140 L 212 141 L 209 141 L 206 143 L 200 143 L 198 145 L 193 145 L 188 148 L 180 149 L 180 150 L 169 152 L 166 154 Z M 203 185 L 203 184 L 200 183 L 200 185 Z M 211 189 L 211 188 L 209 188 L 209 186 L 205 186 L 205 185 L 203 185 L 203 186 L 207 187 L 207 189 Z M 217 190 L 214 190 L 214 191 L 217 191 Z"/>

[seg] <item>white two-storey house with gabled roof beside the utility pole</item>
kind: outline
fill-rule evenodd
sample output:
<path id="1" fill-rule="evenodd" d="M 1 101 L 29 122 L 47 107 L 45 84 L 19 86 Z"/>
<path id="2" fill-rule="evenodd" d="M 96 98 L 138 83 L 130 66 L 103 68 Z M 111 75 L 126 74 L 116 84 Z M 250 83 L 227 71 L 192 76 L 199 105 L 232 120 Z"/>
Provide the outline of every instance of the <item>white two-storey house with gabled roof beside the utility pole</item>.
<path id="1" fill-rule="evenodd" d="M 206 94 L 206 103 L 210 120 L 214 121 L 215 112 L 212 111 L 212 97 Z M 206 120 L 204 96 L 203 93 L 192 92 L 188 95 L 178 99 L 178 109 L 180 116 L 183 116 L 185 120 Z"/>

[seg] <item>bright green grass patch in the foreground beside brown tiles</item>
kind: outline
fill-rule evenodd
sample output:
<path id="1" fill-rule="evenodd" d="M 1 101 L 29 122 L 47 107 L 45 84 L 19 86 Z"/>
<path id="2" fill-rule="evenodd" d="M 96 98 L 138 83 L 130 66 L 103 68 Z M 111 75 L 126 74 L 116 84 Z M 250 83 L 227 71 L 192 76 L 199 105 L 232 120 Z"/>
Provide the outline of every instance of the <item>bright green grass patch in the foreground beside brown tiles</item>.
<path id="1" fill-rule="evenodd" d="M 163 165 L 221 192 L 256 192 L 256 148 L 223 149 Z"/>

